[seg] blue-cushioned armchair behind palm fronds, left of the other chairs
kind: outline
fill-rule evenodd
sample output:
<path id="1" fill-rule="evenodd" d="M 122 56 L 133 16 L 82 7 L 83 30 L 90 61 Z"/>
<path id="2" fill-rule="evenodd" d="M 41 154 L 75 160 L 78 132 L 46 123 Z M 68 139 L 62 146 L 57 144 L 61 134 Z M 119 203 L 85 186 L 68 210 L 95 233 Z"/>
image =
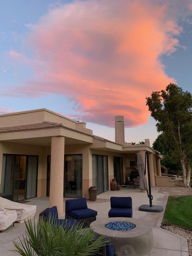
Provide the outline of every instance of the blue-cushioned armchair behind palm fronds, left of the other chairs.
<path id="1" fill-rule="evenodd" d="M 46 221 L 50 218 L 51 221 L 55 221 L 58 226 L 63 226 L 67 229 L 73 228 L 77 225 L 77 220 L 58 219 L 57 206 L 46 208 L 43 212 L 39 214 L 39 218 L 44 218 Z"/>

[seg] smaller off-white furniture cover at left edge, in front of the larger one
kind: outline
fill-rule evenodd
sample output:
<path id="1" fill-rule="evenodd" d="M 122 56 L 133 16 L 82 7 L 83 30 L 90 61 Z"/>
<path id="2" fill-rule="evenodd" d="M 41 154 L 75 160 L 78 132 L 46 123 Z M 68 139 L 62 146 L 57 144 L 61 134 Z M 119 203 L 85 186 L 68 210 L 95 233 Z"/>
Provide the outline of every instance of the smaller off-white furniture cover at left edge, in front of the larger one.
<path id="1" fill-rule="evenodd" d="M 0 231 L 10 227 L 17 219 L 16 210 L 4 211 L 0 206 Z"/>

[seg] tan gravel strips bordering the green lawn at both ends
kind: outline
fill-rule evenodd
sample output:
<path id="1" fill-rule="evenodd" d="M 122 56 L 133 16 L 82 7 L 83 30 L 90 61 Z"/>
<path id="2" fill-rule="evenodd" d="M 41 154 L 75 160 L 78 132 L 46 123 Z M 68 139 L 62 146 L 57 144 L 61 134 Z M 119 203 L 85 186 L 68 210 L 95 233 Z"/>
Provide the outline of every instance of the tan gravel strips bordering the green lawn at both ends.
<path id="1" fill-rule="evenodd" d="M 158 193 L 168 194 L 170 196 L 188 196 L 192 195 L 192 188 L 176 187 L 160 187 Z M 192 231 L 185 230 L 175 226 L 162 226 L 163 229 L 168 230 L 176 235 L 187 238 L 189 256 L 192 256 Z"/>

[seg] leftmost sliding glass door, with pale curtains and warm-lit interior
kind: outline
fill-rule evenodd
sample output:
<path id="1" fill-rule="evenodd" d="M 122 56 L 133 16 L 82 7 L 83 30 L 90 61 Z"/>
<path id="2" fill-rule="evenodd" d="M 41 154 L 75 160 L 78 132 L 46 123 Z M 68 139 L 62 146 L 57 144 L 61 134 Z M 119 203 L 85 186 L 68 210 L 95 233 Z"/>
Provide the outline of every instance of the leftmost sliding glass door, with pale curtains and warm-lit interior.
<path id="1" fill-rule="evenodd" d="M 3 155 L 1 193 L 13 201 L 37 196 L 38 156 Z"/>

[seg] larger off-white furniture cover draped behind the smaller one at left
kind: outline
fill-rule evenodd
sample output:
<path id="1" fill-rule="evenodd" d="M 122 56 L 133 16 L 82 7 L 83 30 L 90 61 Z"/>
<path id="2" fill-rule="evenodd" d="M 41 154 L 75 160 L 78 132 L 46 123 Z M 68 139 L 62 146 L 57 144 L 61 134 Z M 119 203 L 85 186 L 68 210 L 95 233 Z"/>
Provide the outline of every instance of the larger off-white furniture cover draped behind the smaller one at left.
<path id="1" fill-rule="evenodd" d="M 0 197 L 0 206 L 4 209 L 4 211 L 15 210 L 17 214 L 16 221 L 20 223 L 24 222 L 24 220 L 34 218 L 37 208 L 36 205 L 16 203 L 3 197 Z M 2 210 L 0 209 L 0 211 Z"/>

